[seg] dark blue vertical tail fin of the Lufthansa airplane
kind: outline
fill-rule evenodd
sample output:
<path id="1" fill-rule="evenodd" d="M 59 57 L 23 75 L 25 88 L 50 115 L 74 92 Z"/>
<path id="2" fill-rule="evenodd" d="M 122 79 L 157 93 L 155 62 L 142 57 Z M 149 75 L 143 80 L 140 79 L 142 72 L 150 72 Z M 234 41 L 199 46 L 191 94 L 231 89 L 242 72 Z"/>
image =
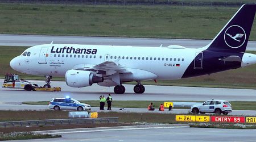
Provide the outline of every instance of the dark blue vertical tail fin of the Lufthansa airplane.
<path id="1" fill-rule="evenodd" d="M 217 52 L 245 52 L 256 5 L 243 5 L 205 48 Z"/>

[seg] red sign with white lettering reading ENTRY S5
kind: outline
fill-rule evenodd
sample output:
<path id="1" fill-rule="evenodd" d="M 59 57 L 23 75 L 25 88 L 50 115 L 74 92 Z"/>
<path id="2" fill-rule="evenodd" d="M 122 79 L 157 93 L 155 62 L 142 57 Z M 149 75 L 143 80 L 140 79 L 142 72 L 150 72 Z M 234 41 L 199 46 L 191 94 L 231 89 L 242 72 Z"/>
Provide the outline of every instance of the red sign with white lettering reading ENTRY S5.
<path id="1" fill-rule="evenodd" d="M 240 116 L 210 116 L 211 122 L 245 123 L 245 117 Z"/>

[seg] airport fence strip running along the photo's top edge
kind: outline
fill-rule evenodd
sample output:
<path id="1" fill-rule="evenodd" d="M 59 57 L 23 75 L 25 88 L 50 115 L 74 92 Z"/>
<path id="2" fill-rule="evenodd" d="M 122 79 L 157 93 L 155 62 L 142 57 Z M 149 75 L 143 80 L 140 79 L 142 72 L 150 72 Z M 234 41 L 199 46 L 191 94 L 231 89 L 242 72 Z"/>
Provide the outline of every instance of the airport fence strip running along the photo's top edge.
<path id="1" fill-rule="evenodd" d="M 168 5 L 238 7 L 256 0 L 0 0 L 0 3 L 35 3 L 38 5 Z"/>

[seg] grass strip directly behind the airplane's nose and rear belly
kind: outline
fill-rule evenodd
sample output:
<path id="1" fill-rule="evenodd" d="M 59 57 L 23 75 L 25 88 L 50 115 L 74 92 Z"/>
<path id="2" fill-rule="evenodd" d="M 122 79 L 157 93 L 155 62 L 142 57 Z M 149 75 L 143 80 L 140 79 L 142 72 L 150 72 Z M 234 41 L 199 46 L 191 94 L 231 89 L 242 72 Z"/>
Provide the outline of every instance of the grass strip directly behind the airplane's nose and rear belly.
<path id="1" fill-rule="evenodd" d="M 5 73 L 17 73 L 20 78 L 32 80 L 45 80 L 44 77 L 31 76 L 28 74 L 18 73 L 11 69 L 9 62 L 15 56 L 20 55 L 27 47 L 4 47 L 0 46 L 0 78 L 4 78 Z M 256 54 L 256 51 L 247 51 L 248 53 Z M 184 78 L 181 80 L 170 81 L 143 81 L 144 85 L 171 85 L 171 86 L 200 86 L 200 87 L 228 87 L 228 88 L 243 88 L 256 89 L 256 64 L 228 70 L 226 72 L 215 73 L 212 75 Z M 64 77 L 53 77 L 53 80 L 64 81 Z M 134 82 L 131 82 L 134 83 Z"/>

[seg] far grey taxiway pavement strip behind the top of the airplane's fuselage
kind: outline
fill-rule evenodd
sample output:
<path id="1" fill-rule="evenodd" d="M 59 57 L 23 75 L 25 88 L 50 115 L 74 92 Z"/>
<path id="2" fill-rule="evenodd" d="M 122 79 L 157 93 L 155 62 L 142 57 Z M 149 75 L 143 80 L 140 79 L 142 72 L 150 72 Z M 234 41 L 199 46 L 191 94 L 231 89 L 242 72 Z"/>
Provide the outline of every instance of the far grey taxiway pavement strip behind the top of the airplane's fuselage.
<path id="1" fill-rule="evenodd" d="M 34 46 L 49 44 L 51 41 L 62 44 L 129 45 L 142 47 L 160 47 L 163 44 L 163 47 L 181 45 L 186 48 L 201 48 L 209 44 L 211 40 L 0 34 L 0 45 L 6 46 Z M 247 50 L 256 51 L 256 41 L 249 41 Z"/>

